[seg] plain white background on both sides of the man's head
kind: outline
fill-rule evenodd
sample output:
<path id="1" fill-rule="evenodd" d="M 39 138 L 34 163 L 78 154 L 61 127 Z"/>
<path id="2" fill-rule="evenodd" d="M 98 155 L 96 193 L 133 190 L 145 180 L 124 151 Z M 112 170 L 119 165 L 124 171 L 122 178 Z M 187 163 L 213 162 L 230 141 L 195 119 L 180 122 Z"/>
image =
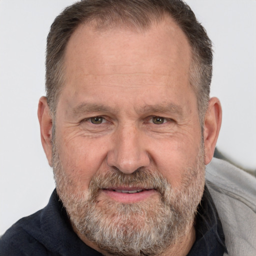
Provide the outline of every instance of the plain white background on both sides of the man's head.
<path id="1" fill-rule="evenodd" d="M 45 40 L 72 0 L 0 0 L 0 234 L 43 207 L 54 188 L 36 111 Z M 256 169 L 256 1 L 188 0 L 213 41 L 211 95 L 223 108 L 218 148 Z"/>

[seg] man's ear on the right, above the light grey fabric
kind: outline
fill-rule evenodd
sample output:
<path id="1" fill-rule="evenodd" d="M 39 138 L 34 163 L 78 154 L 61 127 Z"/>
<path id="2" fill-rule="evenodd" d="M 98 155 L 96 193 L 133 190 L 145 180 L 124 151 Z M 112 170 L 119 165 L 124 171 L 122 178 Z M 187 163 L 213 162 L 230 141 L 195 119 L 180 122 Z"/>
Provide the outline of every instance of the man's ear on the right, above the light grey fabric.
<path id="1" fill-rule="evenodd" d="M 208 108 L 204 116 L 204 163 L 208 164 L 214 153 L 219 129 L 221 126 L 222 110 L 216 97 L 209 100 Z"/>

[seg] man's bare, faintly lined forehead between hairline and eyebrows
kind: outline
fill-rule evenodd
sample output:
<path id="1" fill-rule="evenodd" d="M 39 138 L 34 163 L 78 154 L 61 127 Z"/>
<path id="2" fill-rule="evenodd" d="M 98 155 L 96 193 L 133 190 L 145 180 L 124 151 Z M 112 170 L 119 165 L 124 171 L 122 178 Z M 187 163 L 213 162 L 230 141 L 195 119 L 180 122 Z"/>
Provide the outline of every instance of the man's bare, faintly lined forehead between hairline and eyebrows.
<path id="1" fill-rule="evenodd" d="M 158 94 L 158 99 L 167 98 L 166 93 L 175 96 L 188 90 L 190 59 L 187 38 L 171 18 L 143 31 L 127 26 L 97 29 L 92 24 L 81 24 L 66 46 L 65 93 L 61 94 L 72 105 L 97 95 L 104 101 L 106 90 L 118 93 L 128 103 L 132 103 L 129 96 L 134 98 L 136 92 L 144 100 L 149 94 L 155 94 L 155 98 Z M 116 95 L 112 99 L 118 101 Z M 139 100 L 137 97 L 136 103 Z"/>

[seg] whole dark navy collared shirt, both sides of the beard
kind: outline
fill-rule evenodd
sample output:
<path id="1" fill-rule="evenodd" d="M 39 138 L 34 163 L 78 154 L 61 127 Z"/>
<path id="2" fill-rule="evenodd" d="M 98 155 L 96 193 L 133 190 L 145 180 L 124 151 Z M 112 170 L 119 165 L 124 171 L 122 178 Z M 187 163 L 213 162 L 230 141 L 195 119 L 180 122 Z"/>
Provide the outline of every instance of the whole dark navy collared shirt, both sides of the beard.
<path id="1" fill-rule="evenodd" d="M 196 241 L 188 256 L 222 256 L 226 247 L 217 211 L 205 188 L 195 219 Z M 1 256 L 99 256 L 72 230 L 56 190 L 48 204 L 21 218 L 0 238 Z"/>

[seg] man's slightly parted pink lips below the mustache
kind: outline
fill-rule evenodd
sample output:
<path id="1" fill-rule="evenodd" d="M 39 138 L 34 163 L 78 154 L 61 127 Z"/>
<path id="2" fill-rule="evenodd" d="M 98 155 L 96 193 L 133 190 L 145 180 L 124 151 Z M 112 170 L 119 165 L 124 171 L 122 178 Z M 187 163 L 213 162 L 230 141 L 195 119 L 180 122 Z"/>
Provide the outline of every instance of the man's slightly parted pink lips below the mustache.
<path id="1" fill-rule="evenodd" d="M 142 190 L 136 193 L 121 193 L 121 192 L 116 192 L 114 190 L 107 190 L 107 189 L 102 189 L 101 191 L 108 197 L 123 203 L 133 203 L 133 202 L 143 201 L 157 193 L 155 189 Z"/>

